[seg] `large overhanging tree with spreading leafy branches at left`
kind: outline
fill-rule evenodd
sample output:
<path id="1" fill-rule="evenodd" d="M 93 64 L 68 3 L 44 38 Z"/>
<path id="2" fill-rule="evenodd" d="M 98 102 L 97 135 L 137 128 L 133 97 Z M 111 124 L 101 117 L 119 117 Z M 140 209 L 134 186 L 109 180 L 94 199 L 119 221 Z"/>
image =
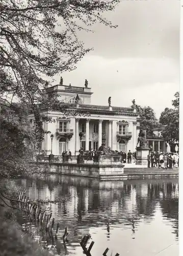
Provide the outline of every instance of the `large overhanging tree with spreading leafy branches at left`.
<path id="1" fill-rule="evenodd" d="M 0 164 L 4 170 L 24 172 L 44 137 L 42 122 L 53 121 L 41 114 L 43 106 L 67 111 L 68 106 L 47 90 L 46 77 L 73 70 L 91 50 L 79 40 L 80 30 L 89 32 L 96 22 L 116 27 L 101 14 L 114 10 L 119 1 L 2 0 Z M 34 131 L 28 122 L 30 113 Z"/>

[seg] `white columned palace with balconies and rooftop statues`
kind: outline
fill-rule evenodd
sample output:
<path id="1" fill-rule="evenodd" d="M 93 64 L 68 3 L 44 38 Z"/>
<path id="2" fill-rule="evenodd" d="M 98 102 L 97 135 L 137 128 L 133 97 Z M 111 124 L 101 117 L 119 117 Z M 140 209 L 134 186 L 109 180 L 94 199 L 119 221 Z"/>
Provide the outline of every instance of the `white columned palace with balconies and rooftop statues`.
<path id="1" fill-rule="evenodd" d="M 56 120 L 43 123 L 44 130 L 50 133 L 45 134 L 40 150 L 45 151 L 47 155 L 51 153 L 51 149 L 54 155 L 62 155 L 63 151 L 69 150 L 72 155 L 77 155 L 80 147 L 86 151 L 92 148 L 97 150 L 102 142 L 114 151 L 135 152 L 140 131 L 136 109 L 121 108 L 110 103 L 105 106 L 92 105 L 93 93 L 86 85 L 64 86 L 61 82 L 48 90 L 58 94 L 71 113 L 63 114 L 46 108 L 42 110 L 44 115 Z M 34 125 L 33 118 L 31 122 Z M 53 139 L 50 134 L 54 135 Z M 158 141 L 156 137 L 152 139 Z M 162 137 L 159 139 L 163 140 Z"/>

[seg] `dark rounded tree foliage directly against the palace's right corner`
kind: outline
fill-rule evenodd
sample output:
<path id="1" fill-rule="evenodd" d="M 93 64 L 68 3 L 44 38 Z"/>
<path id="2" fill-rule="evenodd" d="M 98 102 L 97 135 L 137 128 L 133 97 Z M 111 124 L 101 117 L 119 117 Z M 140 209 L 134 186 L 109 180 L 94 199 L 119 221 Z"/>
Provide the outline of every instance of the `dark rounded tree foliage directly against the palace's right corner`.
<path id="1" fill-rule="evenodd" d="M 150 106 L 136 105 L 137 112 L 140 115 L 140 126 L 147 131 L 147 134 L 152 135 L 153 127 L 158 125 L 158 119 Z"/>

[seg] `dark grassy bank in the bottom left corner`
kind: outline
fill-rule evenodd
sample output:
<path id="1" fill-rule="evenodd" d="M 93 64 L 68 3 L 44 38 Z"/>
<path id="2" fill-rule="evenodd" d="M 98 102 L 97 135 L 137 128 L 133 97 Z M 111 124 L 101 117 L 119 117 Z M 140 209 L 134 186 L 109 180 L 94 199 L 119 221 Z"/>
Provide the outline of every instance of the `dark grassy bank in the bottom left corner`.
<path id="1" fill-rule="evenodd" d="M 0 188 L 8 198 L 17 198 L 21 187 L 15 186 L 13 182 L 3 179 Z M 53 255 L 44 250 L 29 234 L 21 230 L 16 221 L 19 209 L 13 209 L 11 202 L 0 195 L 0 255 L 1 256 L 50 256 Z M 4 206 L 3 206 L 4 205 Z M 14 206 L 16 208 L 16 206 Z"/>

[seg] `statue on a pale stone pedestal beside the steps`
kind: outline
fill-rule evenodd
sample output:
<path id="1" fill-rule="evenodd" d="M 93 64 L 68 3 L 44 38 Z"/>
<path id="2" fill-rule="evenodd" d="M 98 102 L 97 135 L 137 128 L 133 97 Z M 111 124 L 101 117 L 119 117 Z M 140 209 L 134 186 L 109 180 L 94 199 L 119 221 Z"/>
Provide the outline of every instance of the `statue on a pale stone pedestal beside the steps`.
<path id="1" fill-rule="evenodd" d="M 149 154 L 150 148 L 147 146 L 146 131 L 144 129 L 140 130 L 136 150 L 136 164 L 145 165 L 147 167 L 147 155 Z"/>

